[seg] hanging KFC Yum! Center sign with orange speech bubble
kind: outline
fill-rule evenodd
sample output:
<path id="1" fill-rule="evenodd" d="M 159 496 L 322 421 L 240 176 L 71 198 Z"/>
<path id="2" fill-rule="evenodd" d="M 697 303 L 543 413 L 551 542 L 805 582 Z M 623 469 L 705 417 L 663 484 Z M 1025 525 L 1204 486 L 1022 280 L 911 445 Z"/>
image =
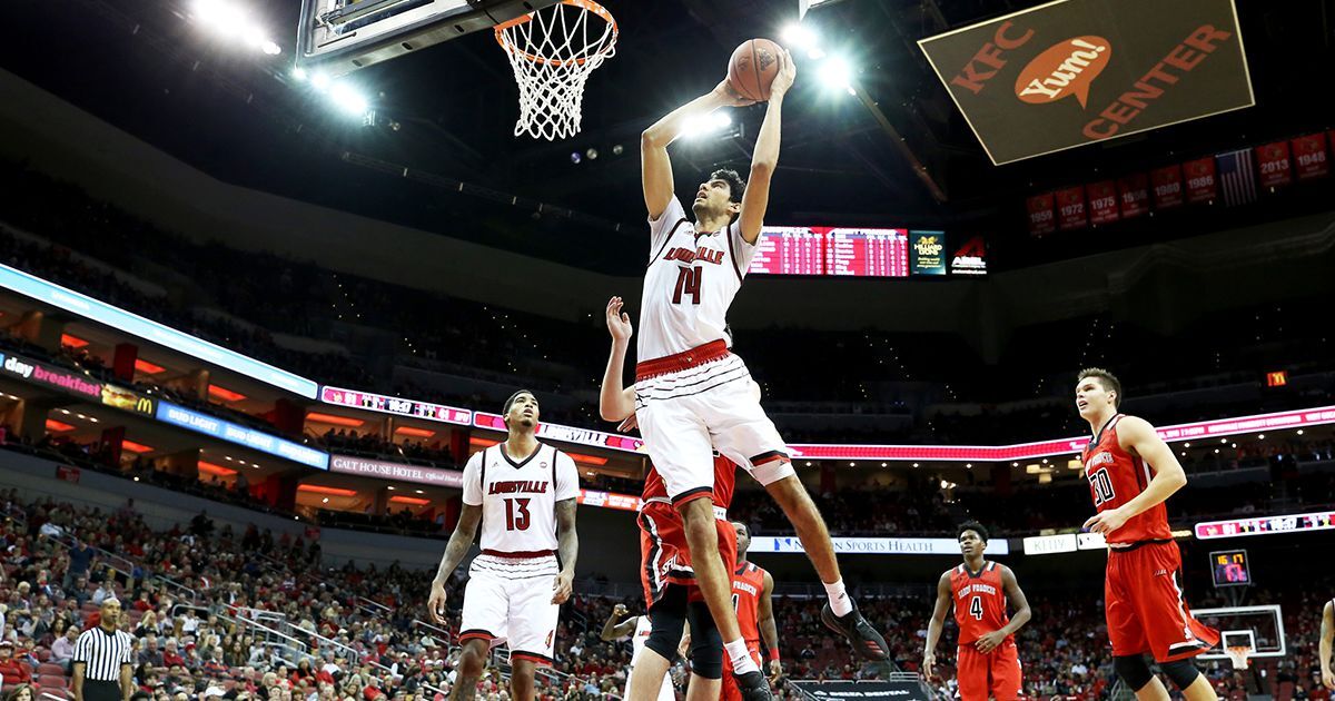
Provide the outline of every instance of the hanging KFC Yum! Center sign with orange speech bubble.
<path id="1" fill-rule="evenodd" d="M 1059 0 L 918 45 L 997 166 L 1255 104 L 1232 0 Z"/>

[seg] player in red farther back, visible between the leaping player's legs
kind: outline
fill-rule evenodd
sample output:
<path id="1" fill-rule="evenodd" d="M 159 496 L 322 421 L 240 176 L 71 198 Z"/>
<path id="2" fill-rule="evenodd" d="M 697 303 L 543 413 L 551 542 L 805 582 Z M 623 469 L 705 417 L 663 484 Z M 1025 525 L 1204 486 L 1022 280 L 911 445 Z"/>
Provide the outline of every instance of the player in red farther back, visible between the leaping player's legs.
<path id="1" fill-rule="evenodd" d="M 765 658 L 769 660 L 769 682 L 778 684 L 784 668 L 778 661 L 778 626 L 774 625 L 774 578 L 762 567 L 746 562 L 746 549 L 750 547 L 750 529 L 746 523 L 733 522 L 737 531 L 737 565 L 733 567 L 733 606 L 737 610 L 737 625 L 742 629 L 746 652 L 761 669 L 761 642 L 764 638 Z M 722 701 L 741 701 L 742 692 L 733 680 L 732 660 L 724 658 Z"/>

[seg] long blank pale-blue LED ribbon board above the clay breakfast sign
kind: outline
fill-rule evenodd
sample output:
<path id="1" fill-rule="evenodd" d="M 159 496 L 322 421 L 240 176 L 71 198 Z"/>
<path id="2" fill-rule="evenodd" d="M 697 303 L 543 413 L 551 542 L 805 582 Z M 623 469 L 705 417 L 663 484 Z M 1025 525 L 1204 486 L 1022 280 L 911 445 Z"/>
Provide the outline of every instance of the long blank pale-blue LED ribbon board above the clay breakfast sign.
<path id="1" fill-rule="evenodd" d="M 88 295 L 67 290 L 3 263 L 0 263 L 0 286 L 306 398 L 314 399 L 319 389 L 315 382 L 300 375 L 294 375 L 268 363 L 230 351 L 222 346 L 215 346 L 190 334 L 183 334 L 138 314 L 131 314 L 120 307 L 97 302 Z"/>

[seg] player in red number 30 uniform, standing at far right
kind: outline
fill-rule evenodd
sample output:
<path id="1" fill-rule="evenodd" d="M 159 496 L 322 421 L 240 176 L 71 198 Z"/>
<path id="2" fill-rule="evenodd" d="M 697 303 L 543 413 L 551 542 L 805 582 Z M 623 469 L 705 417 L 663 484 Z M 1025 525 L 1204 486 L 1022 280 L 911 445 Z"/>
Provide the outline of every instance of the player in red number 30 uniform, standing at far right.
<path id="1" fill-rule="evenodd" d="M 1191 658 L 1219 644 L 1219 632 L 1191 616 L 1183 600 L 1181 553 L 1168 527 L 1167 499 L 1187 485 L 1172 450 L 1144 419 L 1117 413 L 1121 383 L 1107 370 L 1081 370 L 1076 409 L 1093 438 L 1083 454 L 1097 514 L 1084 527 L 1108 541 L 1104 602 L 1113 669 L 1136 698 L 1167 700 L 1144 654 L 1187 701 L 1218 698 Z"/>

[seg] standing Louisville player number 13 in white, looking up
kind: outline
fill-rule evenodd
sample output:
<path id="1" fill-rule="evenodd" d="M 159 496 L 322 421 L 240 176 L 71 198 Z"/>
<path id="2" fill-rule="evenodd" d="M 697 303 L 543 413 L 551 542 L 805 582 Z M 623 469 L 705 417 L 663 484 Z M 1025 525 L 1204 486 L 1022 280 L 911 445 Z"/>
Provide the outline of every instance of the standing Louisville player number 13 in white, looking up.
<path id="1" fill-rule="evenodd" d="M 570 598 L 579 538 L 579 473 L 565 453 L 539 443 L 538 399 L 527 390 L 502 410 L 506 439 L 475 453 L 463 469 L 463 509 L 431 582 L 427 609 L 445 625 L 445 582 L 459 565 L 478 523 L 482 553 L 473 558 L 459 625 L 459 676 L 451 700 L 477 694 L 487 650 L 510 646 L 511 698 L 533 701 L 538 665 L 551 664 L 561 604 Z"/>

